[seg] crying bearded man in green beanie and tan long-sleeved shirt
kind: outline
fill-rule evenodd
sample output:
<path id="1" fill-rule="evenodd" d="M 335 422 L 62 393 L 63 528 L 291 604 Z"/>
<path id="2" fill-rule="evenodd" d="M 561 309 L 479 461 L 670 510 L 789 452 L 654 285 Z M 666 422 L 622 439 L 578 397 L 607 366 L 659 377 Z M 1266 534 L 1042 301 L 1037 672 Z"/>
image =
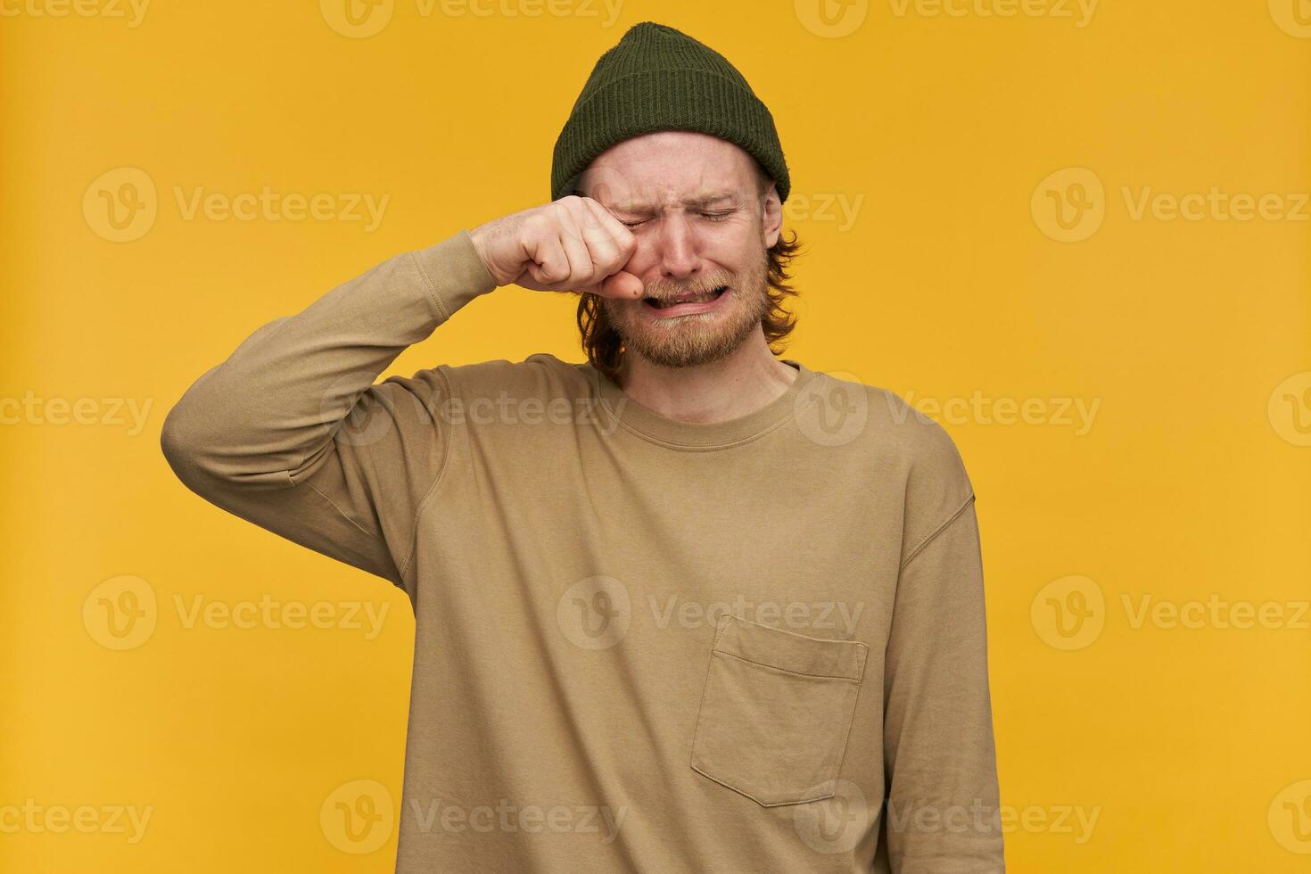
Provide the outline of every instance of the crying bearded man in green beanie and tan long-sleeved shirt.
<path id="1" fill-rule="evenodd" d="M 1004 870 L 973 489 L 905 402 L 776 358 L 788 189 L 746 80 L 640 24 L 551 203 L 265 325 L 169 413 L 189 487 L 409 596 L 399 871 Z M 374 384 L 509 284 L 578 292 L 587 363 Z"/>

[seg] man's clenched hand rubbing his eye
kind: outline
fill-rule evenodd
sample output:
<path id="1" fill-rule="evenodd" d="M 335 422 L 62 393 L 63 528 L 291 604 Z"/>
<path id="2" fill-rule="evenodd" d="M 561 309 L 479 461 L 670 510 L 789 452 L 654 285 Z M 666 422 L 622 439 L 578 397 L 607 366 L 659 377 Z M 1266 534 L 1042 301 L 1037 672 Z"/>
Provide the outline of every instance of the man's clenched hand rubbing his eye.
<path id="1" fill-rule="evenodd" d="M 637 299 L 642 280 L 624 271 L 637 240 L 593 198 L 569 195 L 469 232 L 497 286 Z"/>

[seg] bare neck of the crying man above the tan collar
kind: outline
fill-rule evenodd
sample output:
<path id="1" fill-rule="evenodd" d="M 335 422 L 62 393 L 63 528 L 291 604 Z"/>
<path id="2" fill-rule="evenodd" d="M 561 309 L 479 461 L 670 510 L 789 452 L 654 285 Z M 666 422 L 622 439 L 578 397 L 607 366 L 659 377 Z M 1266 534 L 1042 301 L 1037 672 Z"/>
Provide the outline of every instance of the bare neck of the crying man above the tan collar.
<path id="1" fill-rule="evenodd" d="M 797 370 L 773 356 L 764 335 L 697 367 L 661 367 L 625 355 L 616 381 L 624 394 L 679 422 L 714 423 L 755 413 L 783 394 Z"/>

